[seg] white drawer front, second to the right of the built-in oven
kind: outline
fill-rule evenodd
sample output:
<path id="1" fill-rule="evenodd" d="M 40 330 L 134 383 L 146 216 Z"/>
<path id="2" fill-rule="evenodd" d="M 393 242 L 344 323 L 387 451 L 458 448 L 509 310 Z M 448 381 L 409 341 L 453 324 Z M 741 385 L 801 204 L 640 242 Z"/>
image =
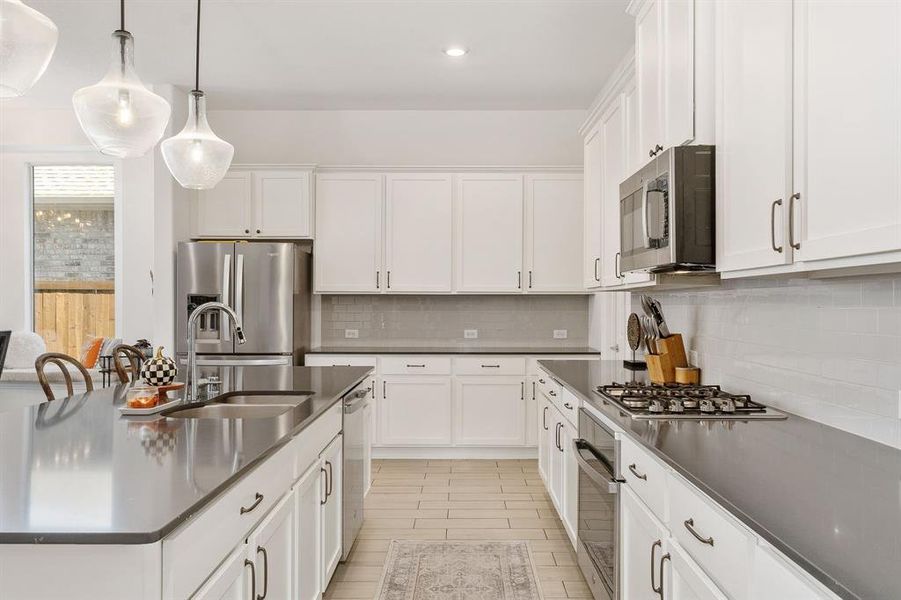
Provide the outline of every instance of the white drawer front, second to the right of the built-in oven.
<path id="1" fill-rule="evenodd" d="M 730 597 L 747 598 L 754 536 L 678 475 L 670 475 L 669 492 L 673 537 Z"/>

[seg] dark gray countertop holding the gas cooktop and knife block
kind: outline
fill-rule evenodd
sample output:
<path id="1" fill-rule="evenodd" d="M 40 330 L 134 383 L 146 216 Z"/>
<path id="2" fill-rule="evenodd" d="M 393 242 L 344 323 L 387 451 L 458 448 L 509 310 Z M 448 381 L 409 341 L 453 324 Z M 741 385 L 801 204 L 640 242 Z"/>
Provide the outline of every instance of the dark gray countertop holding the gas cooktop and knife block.
<path id="1" fill-rule="evenodd" d="M 901 597 L 901 451 L 791 414 L 633 420 L 594 389 L 642 373 L 614 361 L 539 364 L 838 596 Z"/>

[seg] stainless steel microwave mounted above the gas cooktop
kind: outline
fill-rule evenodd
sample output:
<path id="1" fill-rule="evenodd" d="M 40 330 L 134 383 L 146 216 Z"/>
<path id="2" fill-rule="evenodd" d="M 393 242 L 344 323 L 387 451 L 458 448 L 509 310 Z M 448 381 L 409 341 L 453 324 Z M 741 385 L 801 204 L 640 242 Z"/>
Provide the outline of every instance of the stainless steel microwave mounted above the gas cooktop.
<path id="1" fill-rule="evenodd" d="M 619 186 L 621 272 L 715 270 L 714 177 L 714 146 L 676 146 Z"/>

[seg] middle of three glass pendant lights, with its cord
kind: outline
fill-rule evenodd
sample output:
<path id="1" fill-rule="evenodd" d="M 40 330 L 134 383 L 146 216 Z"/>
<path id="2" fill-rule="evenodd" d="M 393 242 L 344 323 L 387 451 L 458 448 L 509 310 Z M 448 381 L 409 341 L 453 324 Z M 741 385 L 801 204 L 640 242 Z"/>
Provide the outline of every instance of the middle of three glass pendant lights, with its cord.
<path id="1" fill-rule="evenodd" d="M 163 137 L 172 109 L 141 83 L 134 39 L 125 30 L 125 0 L 119 7 L 110 69 L 99 82 L 76 91 L 72 105 L 81 128 L 101 153 L 130 158 L 143 156 Z"/>

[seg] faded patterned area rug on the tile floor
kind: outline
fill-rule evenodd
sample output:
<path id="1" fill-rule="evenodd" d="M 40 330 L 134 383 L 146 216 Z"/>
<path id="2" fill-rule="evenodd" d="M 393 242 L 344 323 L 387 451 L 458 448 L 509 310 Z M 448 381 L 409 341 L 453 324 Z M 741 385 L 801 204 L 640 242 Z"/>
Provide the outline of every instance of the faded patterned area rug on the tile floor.
<path id="1" fill-rule="evenodd" d="M 393 540 L 377 600 L 540 600 L 528 542 Z"/>

